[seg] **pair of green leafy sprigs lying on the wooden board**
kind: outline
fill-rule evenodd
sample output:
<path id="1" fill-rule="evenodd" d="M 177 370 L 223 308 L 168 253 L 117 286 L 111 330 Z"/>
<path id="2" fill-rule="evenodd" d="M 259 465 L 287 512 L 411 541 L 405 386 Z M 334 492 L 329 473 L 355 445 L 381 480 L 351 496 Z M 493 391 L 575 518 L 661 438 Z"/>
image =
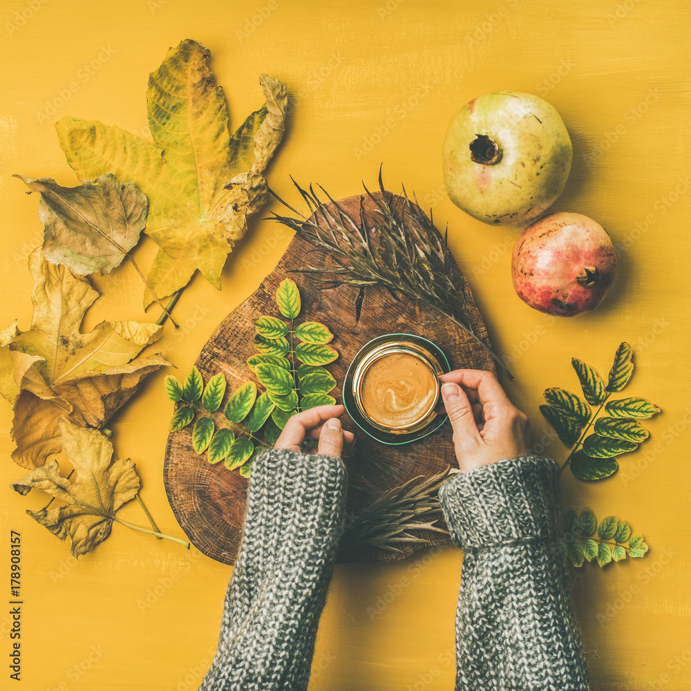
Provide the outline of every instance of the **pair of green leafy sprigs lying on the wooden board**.
<path id="1" fill-rule="evenodd" d="M 239 468 L 244 477 L 249 477 L 254 457 L 276 443 L 292 415 L 336 402 L 329 392 L 337 382 L 321 366 L 338 357 L 338 352 L 326 345 L 334 334 L 316 321 L 296 325 L 301 298 L 294 281 L 285 279 L 279 285 L 276 303 L 290 325 L 274 316 L 256 319 L 254 346 L 258 354 L 247 360 L 265 388 L 261 395 L 256 384 L 248 381 L 229 397 L 220 414 L 227 388 L 223 373 L 211 377 L 206 386 L 196 367 L 183 384 L 175 377 L 165 379 L 167 396 L 180 404 L 171 419 L 171 432 L 196 419 L 192 428 L 194 451 L 200 455 L 207 452 L 211 464 L 224 461 L 229 470 Z M 296 366 L 296 361 L 301 364 Z"/>

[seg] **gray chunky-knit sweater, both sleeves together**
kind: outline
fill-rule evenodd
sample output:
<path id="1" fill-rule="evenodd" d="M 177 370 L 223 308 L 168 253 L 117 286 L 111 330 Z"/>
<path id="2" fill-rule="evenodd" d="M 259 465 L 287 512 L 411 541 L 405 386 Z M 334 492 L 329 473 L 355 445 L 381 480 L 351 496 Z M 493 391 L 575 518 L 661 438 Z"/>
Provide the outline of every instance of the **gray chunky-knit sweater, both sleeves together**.
<path id="1" fill-rule="evenodd" d="M 558 466 L 502 460 L 439 490 L 465 551 L 456 691 L 587 691 L 558 548 Z M 218 652 L 200 691 L 304 691 L 345 510 L 339 458 L 273 449 L 254 461 Z M 431 691 L 431 690 L 430 690 Z"/>

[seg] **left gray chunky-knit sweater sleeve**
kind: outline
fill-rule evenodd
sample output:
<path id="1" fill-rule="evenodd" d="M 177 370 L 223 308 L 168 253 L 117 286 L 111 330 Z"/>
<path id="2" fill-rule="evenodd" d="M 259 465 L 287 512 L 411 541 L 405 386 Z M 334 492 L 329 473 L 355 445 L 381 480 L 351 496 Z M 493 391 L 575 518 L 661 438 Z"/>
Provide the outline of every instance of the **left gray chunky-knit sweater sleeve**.
<path id="1" fill-rule="evenodd" d="M 339 458 L 272 449 L 252 465 L 218 652 L 200 691 L 303 691 L 345 511 Z"/>

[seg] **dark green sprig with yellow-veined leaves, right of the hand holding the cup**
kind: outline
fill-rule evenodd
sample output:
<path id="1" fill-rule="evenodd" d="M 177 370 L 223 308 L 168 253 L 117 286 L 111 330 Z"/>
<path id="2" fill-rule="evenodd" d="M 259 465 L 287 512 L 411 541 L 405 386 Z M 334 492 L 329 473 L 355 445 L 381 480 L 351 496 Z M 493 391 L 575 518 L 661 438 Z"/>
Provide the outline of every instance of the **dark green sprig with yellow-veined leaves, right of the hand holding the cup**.
<path id="1" fill-rule="evenodd" d="M 569 466 L 579 480 L 602 480 L 618 470 L 616 456 L 635 451 L 650 436 L 638 419 L 652 417 L 661 409 L 641 397 L 610 400 L 613 393 L 621 392 L 628 384 L 634 371 L 633 351 L 628 343 L 617 348 L 607 384 L 583 360 L 574 357 L 571 364 L 585 400 L 562 388 L 548 388 L 547 405 L 540 406 L 540 413 L 559 439 L 573 446 L 562 471 Z M 591 406 L 597 406 L 594 413 Z M 605 415 L 598 417 L 603 408 Z"/>

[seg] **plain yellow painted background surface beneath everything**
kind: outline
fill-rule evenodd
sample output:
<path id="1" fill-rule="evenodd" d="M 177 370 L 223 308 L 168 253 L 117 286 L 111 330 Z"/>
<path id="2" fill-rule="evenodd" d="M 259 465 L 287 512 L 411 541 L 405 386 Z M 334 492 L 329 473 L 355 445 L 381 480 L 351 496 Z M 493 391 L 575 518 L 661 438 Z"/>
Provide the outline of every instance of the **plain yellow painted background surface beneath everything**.
<path id="1" fill-rule="evenodd" d="M 638 370 L 630 390 L 664 413 L 647 424 L 652 438 L 641 451 L 621 457 L 618 475 L 584 484 L 565 473 L 564 494 L 567 507 L 589 505 L 600 518 L 616 513 L 629 520 L 650 553 L 604 570 L 585 565 L 576 576 L 575 606 L 594 689 L 690 689 L 688 2 L 272 0 L 271 6 L 262 17 L 256 8 L 267 8 L 267 0 L 3 1 L 0 325 L 18 318 L 28 328 L 26 254 L 41 231 L 37 196 L 26 196 L 10 176 L 77 183 L 57 144 L 55 120 L 96 119 L 146 135 L 147 77 L 184 38 L 211 50 L 232 127 L 261 104 L 259 73 L 278 77 L 294 108 L 269 184 L 294 202 L 292 174 L 338 198 L 358 193 L 361 180 L 375 185 L 384 162 L 390 189 L 404 183 L 433 208 L 437 227 L 448 223 L 453 254 L 493 345 L 513 359 L 509 393 L 531 417 L 533 442 L 547 442 L 545 453 L 566 455 L 545 436 L 542 390 L 577 388 L 572 356 L 606 375 L 618 343 L 634 345 Z M 84 66 L 92 61 L 100 66 L 89 74 Z M 70 82 L 78 90 L 56 105 Z M 482 225 L 444 194 L 446 124 L 472 97 L 500 89 L 537 93 L 556 106 L 574 142 L 571 177 L 556 209 L 595 218 L 614 239 L 616 283 L 591 315 L 551 320 L 521 303 L 510 278 L 517 229 Z M 194 278 L 175 310 L 182 329 L 173 333 L 167 325 L 159 348 L 181 372 L 274 267 L 289 235 L 256 220 L 229 258 L 223 292 Z M 150 240 L 142 243 L 142 265 L 154 250 Z M 104 318 L 158 316 L 142 313 L 142 286 L 131 267 L 98 284 L 104 296 L 84 328 Z M 142 496 L 162 530 L 182 536 L 162 484 L 171 415 L 162 378 L 151 377 L 117 415 L 114 443 L 119 457 L 135 460 Z M 8 533 L 15 529 L 23 539 L 22 688 L 197 688 L 216 644 L 231 569 L 120 525 L 75 562 L 68 545 L 24 513 L 46 497 L 7 489 L 24 474 L 10 460 L 10 422 L 10 406 L 0 401 L 0 596 Z M 135 502 L 122 516 L 145 523 Z M 310 689 L 453 688 L 448 659 L 461 561 L 460 551 L 445 547 L 394 565 L 337 567 Z M 399 587 L 402 578 L 409 582 Z M 6 621 L 0 614 L 3 631 Z M 7 661 L 10 641 L 0 638 L 0 659 Z M 4 680 L 8 670 L 1 666 Z"/>

